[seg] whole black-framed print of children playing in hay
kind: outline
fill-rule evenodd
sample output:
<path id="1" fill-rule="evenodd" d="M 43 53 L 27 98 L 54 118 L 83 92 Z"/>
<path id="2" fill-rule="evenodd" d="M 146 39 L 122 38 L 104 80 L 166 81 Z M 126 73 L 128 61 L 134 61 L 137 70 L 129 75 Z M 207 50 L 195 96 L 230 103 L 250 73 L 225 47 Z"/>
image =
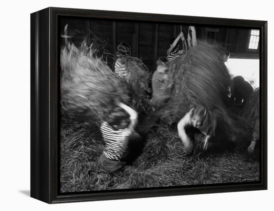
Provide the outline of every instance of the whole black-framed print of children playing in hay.
<path id="1" fill-rule="evenodd" d="M 267 21 L 31 14 L 31 197 L 267 189 Z"/>

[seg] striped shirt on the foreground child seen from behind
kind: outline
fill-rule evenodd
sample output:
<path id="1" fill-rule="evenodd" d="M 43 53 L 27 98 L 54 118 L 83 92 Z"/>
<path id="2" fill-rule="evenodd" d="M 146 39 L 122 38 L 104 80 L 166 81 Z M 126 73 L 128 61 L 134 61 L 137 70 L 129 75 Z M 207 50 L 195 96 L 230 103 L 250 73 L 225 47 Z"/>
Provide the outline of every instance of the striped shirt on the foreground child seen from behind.
<path id="1" fill-rule="evenodd" d="M 115 130 L 108 122 L 104 121 L 100 129 L 105 142 L 104 155 L 111 160 L 120 160 L 127 149 L 133 130 L 132 124 L 126 128 Z"/>

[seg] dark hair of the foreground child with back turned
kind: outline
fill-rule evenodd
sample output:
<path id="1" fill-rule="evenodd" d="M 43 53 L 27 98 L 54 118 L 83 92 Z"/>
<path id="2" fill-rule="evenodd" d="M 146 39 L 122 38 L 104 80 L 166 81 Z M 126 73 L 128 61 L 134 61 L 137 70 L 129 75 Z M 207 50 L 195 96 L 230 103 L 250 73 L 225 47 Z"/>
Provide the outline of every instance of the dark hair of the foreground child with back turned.
<path id="1" fill-rule="evenodd" d="M 122 120 L 127 120 L 130 123 L 130 114 L 122 107 L 115 107 L 108 115 L 107 122 L 113 125 L 120 125 Z"/>

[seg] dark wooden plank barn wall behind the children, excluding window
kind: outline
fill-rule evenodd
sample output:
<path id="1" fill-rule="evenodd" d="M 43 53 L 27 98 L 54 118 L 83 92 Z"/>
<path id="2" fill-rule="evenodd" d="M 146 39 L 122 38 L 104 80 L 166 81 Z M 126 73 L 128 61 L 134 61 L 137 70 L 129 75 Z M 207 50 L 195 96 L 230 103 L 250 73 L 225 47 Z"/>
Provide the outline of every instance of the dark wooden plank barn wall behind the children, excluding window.
<path id="1" fill-rule="evenodd" d="M 66 18 L 61 21 L 61 34 L 65 24 L 68 24 L 68 34 L 73 36 L 76 46 L 84 39 L 88 44 L 95 43 L 100 49 L 99 55 L 104 53 L 110 67 L 113 68 L 116 46 L 125 42 L 132 46 L 132 56 L 141 58 L 151 72 L 156 68 L 156 60 L 166 56 L 181 30 L 179 24 Z M 183 26 L 183 31 L 187 33 L 187 26 Z M 248 50 L 250 29 L 196 26 L 196 31 L 198 40 L 213 40 L 226 47 L 232 57 L 259 58 L 259 50 Z"/>

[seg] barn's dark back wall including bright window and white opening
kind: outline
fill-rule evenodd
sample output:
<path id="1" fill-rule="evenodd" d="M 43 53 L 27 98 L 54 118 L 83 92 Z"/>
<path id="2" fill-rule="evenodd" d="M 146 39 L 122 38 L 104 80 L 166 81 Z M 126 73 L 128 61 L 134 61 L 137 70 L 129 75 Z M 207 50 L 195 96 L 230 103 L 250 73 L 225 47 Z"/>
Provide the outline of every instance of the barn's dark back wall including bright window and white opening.
<path id="1" fill-rule="evenodd" d="M 156 69 L 157 59 L 166 56 L 167 49 L 180 31 L 186 37 L 188 29 L 184 24 L 63 18 L 61 34 L 66 24 L 76 46 L 83 40 L 93 43 L 99 50 L 98 54 L 104 54 L 110 67 L 114 65 L 116 46 L 124 42 L 132 47 L 132 56 L 140 58 L 151 72 Z M 252 86 L 259 87 L 259 30 L 204 25 L 195 25 L 195 28 L 198 40 L 219 44 L 230 52 L 226 65 L 231 74 L 241 75 Z"/>

